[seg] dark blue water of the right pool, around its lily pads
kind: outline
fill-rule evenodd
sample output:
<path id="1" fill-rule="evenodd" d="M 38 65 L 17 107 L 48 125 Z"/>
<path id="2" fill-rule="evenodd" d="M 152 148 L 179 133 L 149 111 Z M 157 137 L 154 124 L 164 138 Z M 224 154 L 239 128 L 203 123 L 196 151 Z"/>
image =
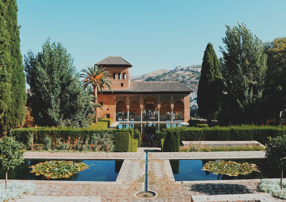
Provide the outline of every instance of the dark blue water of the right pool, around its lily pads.
<path id="1" fill-rule="evenodd" d="M 170 160 L 170 164 L 176 181 L 280 178 L 280 170 L 271 169 L 265 159 L 225 160 L 235 161 L 237 163 L 254 163 L 261 171 L 239 176 L 214 175 L 212 172 L 201 170 L 203 164 L 209 161 L 214 160 Z"/>

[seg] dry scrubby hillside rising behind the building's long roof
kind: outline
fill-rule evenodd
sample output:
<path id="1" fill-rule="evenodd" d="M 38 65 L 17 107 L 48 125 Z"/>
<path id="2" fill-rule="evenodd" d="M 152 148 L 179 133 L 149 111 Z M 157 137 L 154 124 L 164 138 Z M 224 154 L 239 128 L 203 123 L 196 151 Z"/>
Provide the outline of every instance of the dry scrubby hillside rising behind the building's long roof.
<path id="1" fill-rule="evenodd" d="M 174 70 L 157 70 L 140 76 L 131 76 L 130 80 L 133 82 L 179 81 L 197 92 L 201 68 L 201 65 L 178 66 Z"/>

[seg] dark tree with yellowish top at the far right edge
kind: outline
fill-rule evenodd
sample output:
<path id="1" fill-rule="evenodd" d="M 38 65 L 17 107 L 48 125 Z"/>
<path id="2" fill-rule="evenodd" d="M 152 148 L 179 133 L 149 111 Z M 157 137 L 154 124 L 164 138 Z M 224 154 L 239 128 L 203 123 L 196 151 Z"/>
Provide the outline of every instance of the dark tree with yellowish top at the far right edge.
<path id="1" fill-rule="evenodd" d="M 267 70 L 265 78 L 265 119 L 281 124 L 282 111 L 286 109 L 286 37 L 265 44 Z"/>

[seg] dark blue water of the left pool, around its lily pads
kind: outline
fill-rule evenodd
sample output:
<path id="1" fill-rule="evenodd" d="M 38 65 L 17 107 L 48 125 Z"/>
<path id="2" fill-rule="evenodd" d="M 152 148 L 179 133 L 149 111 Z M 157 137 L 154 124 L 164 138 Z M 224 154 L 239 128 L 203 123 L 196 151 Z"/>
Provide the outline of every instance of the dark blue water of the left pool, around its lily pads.
<path id="1" fill-rule="evenodd" d="M 17 180 L 48 180 L 43 175 L 36 176 L 35 173 L 30 173 L 31 168 L 28 168 L 37 163 L 49 160 L 28 160 L 25 159 L 24 163 L 15 169 L 8 171 L 8 179 Z M 84 160 L 74 161 L 76 163 L 83 162 L 90 167 L 79 173 L 75 173 L 69 178 L 59 178 L 50 180 L 64 180 L 64 181 L 116 181 L 123 160 Z M 0 179 L 5 179 L 5 173 L 0 171 Z"/>

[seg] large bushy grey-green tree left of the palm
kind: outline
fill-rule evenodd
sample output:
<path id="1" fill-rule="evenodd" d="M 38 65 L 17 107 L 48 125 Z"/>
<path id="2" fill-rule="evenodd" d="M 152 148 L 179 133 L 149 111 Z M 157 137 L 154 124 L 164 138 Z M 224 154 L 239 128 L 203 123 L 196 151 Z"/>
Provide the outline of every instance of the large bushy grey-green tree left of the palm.
<path id="1" fill-rule="evenodd" d="M 61 43 L 43 44 L 43 52 L 24 55 L 28 102 L 34 124 L 39 126 L 87 127 L 94 113 L 73 64 L 73 58 Z"/>

